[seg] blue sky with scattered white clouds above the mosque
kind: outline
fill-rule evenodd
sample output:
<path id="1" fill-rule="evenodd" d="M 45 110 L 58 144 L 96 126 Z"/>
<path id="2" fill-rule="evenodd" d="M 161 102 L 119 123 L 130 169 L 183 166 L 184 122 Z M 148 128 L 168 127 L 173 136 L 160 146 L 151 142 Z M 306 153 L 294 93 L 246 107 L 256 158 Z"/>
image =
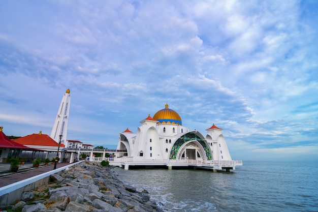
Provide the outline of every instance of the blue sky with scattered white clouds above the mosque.
<path id="1" fill-rule="evenodd" d="M 318 1 L 0 1 L 0 125 L 111 147 L 165 107 L 234 160 L 318 160 Z"/>

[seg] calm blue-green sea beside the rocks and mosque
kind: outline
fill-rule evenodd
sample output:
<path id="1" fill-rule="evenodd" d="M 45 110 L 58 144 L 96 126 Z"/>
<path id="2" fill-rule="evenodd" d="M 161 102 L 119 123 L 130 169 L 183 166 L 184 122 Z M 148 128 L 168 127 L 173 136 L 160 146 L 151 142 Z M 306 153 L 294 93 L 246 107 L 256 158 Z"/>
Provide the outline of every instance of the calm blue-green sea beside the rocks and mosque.
<path id="1" fill-rule="evenodd" d="M 165 211 L 318 211 L 314 162 L 243 161 L 227 172 L 115 168 Z"/>

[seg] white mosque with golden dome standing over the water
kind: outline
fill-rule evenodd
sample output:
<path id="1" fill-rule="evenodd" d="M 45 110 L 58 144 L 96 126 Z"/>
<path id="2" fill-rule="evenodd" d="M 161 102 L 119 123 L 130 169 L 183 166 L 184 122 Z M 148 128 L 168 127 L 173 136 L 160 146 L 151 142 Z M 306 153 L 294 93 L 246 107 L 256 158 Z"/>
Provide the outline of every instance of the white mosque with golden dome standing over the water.
<path id="1" fill-rule="evenodd" d="M 148 165 L 229 171 L 242 165 L 242 161 L 232 161 L 222 129 L 213 124 L 205 137 L 197 130 L 190 131 L 182 126 L 180 115 L 168 103 L 140 123 L 137 134 L 128 128 L 119 133 L 117 150 L 126 153 L 117 152 L 114 161 L 120 161 L 125 169 Z"/>

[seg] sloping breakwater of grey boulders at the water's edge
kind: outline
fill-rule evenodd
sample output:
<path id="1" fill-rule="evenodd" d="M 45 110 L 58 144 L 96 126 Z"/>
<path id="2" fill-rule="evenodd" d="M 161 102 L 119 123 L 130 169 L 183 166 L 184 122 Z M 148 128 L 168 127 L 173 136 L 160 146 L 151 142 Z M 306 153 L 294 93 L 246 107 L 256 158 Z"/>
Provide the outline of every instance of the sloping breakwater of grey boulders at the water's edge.
<path id="1" fill-rule="evenodd" d="M 82 162 L 51 175 L 52 182 L 29 192 L 11 211 L 163 211 L 147 191 L 124 185 L 111 167 Z"/>

